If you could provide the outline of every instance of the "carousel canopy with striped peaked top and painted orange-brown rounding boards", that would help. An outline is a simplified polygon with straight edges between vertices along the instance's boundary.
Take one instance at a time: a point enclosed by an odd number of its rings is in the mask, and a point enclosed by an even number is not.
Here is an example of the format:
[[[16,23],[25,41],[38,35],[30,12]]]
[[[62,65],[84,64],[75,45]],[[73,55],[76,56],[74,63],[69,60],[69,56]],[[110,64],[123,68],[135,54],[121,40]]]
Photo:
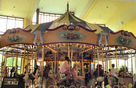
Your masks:
[[[0,38],[0,47],[13,44],[45,45],[50,43],[85,43],[98,46],[135,48],[135,36],[127,31],[113,32],[108,27],[90,24],[67,9],[60,18],[25,29],[7,30]]]

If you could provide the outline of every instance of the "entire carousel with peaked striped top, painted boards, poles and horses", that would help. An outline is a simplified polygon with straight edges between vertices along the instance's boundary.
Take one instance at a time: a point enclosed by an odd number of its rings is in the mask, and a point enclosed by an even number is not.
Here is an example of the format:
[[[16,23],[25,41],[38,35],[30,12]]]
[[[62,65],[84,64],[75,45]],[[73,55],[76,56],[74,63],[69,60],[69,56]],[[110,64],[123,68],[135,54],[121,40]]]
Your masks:
[[[129,56],[136,54],[135,43],[132,33],[85,22],[67,6],[66,13],[52,22],[9,29],[0,37],[2,88],[129,88],[133,70],[119,72],[118,66],[119,59],[128,62]],[[21,73],[14,77],[5,76],[9,57],[21,58]],[[117,81],[109,74],[112,59]],[[61,71],[66,66],[67,70]],[[111,87],[106,87],[105,79]],[[18,87],[20,80],[22,87]]]

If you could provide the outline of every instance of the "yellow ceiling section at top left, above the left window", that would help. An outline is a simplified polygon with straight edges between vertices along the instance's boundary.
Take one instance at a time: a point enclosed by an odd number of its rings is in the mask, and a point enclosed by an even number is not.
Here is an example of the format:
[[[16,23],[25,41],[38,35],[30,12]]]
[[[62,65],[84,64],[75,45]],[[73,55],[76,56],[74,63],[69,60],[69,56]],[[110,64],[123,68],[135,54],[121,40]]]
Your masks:
[[[1,0],[0,15],[30,17],[40,0]]]

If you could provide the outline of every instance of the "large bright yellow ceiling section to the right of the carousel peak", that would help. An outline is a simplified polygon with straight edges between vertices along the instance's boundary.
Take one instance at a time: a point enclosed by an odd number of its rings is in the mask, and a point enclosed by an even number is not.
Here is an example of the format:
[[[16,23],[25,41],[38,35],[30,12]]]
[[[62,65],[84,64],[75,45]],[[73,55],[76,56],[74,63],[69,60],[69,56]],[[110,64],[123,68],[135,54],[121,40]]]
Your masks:
[[[106,24],[113,31],[136,16],[135,0],[95,0],[84,15],[90,23]]]

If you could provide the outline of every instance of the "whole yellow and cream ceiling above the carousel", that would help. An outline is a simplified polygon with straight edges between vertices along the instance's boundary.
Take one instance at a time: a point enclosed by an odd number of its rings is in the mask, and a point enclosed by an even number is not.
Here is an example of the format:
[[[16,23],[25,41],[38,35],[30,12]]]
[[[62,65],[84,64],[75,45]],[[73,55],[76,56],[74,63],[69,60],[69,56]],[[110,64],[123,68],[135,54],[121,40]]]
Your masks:
[[[136,18],[136,0],[69,0],[70,11],[89,23],[106,24],[118,31]],[[36,8],[63,14],[67,0],[0,0],[0,15],[32,18]]]

